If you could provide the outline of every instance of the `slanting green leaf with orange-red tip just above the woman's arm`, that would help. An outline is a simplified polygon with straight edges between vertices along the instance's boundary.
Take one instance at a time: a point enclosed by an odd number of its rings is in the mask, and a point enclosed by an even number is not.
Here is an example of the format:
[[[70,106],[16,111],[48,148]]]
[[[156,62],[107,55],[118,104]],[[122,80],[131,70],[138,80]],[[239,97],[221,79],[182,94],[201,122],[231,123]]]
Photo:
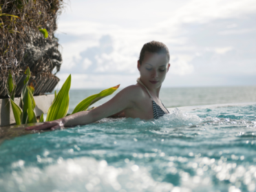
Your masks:
[[[109,89],[103,90],[99,94],[95,94],[95,95],[85,98],[80,103],[78,103],[78,105],[76,105],[76,108],[74,109],[72,114],[75,114],[79,111],[85,111],[86,109],[88,109],[88,107],[90,105],[96,103],[98,100],[105,98],[105,96],[109,96],[109,95],[113,94],[114,92],[116,92],[116,89],[118,89],[119,86],[120,85],[116,85],[115,87],[111,87]]]

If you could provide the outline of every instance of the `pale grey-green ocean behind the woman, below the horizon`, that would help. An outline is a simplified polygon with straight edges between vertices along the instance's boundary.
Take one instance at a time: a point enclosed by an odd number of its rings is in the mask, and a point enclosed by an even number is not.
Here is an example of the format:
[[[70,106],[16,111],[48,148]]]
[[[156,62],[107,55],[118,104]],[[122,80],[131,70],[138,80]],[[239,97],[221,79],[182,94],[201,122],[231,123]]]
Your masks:
[[[111,96],[107,96],[92,105],[98,107],[113,98],[122,88]],[[70,109],[72,113],[76,105],[103,89],[70,89]],[[256,102],[256,86],[254,87],[171,87],[160,90],[160,99],[165,107],[182,107],[194,105],[211,105],[222,103]]]

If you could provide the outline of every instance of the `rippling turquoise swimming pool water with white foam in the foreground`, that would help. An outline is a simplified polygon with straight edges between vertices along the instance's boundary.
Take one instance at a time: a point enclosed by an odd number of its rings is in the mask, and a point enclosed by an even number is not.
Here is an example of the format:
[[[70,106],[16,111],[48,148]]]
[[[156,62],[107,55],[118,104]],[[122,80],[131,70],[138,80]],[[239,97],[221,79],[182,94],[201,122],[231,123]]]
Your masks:
[[[105,118],[0,145],[0,191],[255,191],[256,105]]]

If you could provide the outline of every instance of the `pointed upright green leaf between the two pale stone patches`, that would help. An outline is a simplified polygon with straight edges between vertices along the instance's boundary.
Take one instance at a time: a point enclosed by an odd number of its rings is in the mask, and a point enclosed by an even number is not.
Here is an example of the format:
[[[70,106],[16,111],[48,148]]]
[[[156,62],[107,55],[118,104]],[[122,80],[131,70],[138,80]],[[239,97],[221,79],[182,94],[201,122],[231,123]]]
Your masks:
[[[32,102],[30,89],[28,86],[25,86],[24,92],[22,92],[22,103],[23,103],[23,112],[22,112],[22,124],[27,124],[31,122],[36,122],[36,115],[34,114],[33,107],[35,103]],[[34,98],[33,98],[34,99]]]

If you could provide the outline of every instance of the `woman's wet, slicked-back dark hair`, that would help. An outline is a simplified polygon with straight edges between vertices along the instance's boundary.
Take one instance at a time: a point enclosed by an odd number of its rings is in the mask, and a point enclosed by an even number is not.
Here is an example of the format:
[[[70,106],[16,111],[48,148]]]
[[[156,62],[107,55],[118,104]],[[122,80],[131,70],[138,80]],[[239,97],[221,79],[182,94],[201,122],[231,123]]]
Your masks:
[[[145,43],[143,45],[139,57],[140,65],[142,64],[146,52],[167,54],[168,61],[170,61],[170,54],[167,45],[164,45],[164,43],[159,41],[150,41],[149,43]]]

